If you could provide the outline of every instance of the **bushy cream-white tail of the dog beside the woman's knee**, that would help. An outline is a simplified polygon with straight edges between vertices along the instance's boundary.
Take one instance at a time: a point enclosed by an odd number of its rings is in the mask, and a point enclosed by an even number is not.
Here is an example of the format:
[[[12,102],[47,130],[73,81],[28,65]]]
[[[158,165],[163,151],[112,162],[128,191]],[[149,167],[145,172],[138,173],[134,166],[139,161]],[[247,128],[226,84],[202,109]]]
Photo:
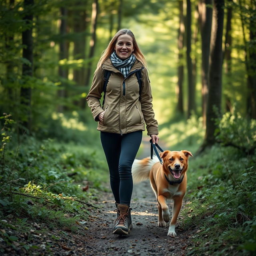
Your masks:
[[[142,160],[135,159],[132,164],[132,179],[134,183],[142,182],[143,180],[149,179],[149,173],[152,166],[159,162],[156,156],[153,159],[150,157],[144,158]]]

